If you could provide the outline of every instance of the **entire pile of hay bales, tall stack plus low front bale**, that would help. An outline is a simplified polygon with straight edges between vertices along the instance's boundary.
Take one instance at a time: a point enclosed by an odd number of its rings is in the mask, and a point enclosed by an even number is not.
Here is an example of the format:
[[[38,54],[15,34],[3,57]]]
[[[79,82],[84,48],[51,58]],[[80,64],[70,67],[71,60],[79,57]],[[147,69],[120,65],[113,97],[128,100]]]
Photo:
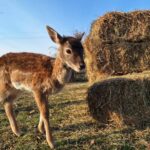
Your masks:
[[[88,79],[99,81],[88,90],[93,117],[116,124],[149,117],[150,11],[100,17],[84,45]]]

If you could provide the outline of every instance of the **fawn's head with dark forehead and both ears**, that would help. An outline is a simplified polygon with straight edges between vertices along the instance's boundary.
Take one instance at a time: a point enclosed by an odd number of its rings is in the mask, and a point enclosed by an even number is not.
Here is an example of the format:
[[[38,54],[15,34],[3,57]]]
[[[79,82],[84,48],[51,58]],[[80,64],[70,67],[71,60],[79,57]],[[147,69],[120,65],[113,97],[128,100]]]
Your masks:
[[[58,57],[63,63],[77,72],[84,70],[85,63],[81,43],[84,34],[78,37],[61,36],[49,26],[47,26],[47,31],[52,41],[58,44]]]

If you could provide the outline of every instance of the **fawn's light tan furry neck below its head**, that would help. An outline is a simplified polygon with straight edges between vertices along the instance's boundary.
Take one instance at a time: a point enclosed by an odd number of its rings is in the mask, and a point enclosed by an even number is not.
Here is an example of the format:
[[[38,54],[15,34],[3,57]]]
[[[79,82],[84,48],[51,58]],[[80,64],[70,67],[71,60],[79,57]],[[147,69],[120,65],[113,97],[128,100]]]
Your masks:
[[[52,78],[58,81],[59,84],[64,85],[71,78],[72,71],[65,63],[57,57],[54,62]]]

